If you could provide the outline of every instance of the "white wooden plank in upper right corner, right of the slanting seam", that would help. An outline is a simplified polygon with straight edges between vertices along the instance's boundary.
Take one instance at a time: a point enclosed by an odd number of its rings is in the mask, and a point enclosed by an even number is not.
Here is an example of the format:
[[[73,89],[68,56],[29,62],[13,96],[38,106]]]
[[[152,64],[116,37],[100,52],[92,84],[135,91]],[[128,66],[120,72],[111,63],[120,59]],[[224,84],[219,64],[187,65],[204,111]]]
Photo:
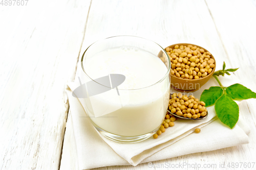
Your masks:
[[[244,84],[256,91],[256,58],[253,56],[256,38],[255,4],[249,0],[232,1],[232,3],[206,0],[206,3],[230,66],[239,67],[235,74]]]

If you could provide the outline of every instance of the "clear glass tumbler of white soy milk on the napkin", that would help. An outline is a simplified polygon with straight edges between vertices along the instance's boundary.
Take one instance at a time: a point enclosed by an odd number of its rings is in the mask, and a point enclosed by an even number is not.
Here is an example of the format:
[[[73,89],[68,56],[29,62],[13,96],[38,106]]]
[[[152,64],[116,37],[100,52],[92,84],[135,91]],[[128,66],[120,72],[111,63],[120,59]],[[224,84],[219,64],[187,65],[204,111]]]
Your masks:
[[[160,45],[135,36],[106,38],[87,48],[81,66],[82,101],[97,131],[133,143],[159,129],[170,95],[170,60]]]

